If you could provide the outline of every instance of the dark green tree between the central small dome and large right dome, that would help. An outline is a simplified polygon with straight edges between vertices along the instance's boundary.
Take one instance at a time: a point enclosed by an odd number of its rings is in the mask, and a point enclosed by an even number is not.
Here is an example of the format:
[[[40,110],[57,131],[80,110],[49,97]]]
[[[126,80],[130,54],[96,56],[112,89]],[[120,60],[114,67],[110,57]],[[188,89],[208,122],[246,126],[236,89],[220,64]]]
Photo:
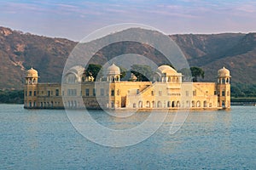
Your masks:
[[[148,65],[131,65],[131,73],[137,77],[138,82],[148,82],[154,75]]]

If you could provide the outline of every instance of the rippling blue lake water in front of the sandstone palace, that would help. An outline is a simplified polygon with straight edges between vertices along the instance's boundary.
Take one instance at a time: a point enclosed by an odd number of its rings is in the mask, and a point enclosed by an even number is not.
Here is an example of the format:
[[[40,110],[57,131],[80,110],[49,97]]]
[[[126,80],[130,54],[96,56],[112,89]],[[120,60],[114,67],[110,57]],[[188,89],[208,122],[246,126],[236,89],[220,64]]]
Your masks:
[[[191,111],[174,134],[168,133],[170,113],[148,139],[116,148],[84,138],[64,110],[0,105],[0,169],[256,169],[255,109]],[[149,113],[127,122],[90,114],[102,125],[129,128]]]

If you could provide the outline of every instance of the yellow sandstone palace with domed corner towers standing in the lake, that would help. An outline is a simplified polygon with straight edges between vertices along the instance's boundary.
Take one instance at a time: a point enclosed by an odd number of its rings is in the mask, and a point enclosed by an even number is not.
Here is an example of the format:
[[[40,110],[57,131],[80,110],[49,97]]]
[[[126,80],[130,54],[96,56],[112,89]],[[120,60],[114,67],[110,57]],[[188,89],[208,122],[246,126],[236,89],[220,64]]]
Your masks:
[[[101,81],[86,77],[74,66],[62,83],[38,83],[38,71],[26,71],[24,108],[27,109],[230,109],[230,71],[218,70],[217,82],[183,82],[183,75],[161,65],[153,82],[120,80],[120,69],[110,65]]]

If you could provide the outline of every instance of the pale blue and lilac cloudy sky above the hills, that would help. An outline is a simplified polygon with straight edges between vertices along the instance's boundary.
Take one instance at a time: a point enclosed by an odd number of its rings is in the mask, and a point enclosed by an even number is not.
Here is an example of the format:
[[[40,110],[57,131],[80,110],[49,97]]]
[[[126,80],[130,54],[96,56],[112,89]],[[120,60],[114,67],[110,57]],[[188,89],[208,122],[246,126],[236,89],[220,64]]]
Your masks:
[[[255,32],[254,0],[0,0],[0,26],[80,41],[121,23],[166,34]]]

